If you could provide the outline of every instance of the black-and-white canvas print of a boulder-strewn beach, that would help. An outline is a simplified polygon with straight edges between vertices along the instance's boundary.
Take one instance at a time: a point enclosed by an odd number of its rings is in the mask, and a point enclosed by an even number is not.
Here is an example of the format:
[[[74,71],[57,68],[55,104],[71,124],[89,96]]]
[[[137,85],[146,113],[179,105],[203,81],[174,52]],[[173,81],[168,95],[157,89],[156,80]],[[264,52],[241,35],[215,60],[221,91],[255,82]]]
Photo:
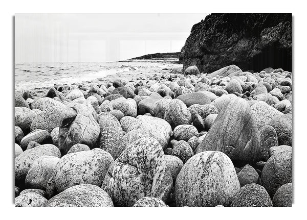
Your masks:
[[[16,207],[292,206],[292,14],[15,14]]]

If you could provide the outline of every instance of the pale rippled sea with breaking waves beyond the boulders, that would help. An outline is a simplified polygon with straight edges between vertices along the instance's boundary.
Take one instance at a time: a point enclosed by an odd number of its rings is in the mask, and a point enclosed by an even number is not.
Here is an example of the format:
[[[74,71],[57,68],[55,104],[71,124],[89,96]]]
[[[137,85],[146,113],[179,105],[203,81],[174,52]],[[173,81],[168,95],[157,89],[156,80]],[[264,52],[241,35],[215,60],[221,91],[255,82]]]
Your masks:
[[[182,64],[176,60],[139,60],[106,63],[15,63],[15,90],[50,88],[55,84],[127,81],[167,74]]]

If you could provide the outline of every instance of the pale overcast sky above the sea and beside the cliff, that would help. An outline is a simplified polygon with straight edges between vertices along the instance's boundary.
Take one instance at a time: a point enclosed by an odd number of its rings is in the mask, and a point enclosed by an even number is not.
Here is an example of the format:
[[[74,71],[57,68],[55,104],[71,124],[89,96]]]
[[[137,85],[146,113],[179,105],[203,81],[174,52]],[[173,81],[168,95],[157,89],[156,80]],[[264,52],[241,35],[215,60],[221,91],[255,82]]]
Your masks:
[[[179,52],[208,14],[16,14],[15,62],[106,62]]]

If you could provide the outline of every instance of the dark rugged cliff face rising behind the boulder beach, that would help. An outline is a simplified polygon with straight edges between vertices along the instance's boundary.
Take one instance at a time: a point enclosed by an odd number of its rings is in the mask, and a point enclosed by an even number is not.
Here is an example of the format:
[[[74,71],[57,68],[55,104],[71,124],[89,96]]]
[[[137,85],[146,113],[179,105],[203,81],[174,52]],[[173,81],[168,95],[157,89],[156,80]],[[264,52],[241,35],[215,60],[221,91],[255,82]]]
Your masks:
[[[292,71],[292,15],[210,14],[192,27],[181,52],[184,69],[210,73],[234,64]]]

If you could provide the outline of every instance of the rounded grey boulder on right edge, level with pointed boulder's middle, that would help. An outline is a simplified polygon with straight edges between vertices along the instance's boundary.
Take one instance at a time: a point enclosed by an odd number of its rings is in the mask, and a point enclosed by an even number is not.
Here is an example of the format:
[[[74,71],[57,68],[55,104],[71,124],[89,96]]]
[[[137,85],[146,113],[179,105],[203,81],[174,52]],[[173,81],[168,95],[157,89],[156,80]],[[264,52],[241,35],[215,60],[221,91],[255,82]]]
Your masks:
[[[272,117],[268,122],[268,125],[272,126],[278,137],[278,143],[280,145],[292,146],[292,116],[285,114],[278,114]]]

